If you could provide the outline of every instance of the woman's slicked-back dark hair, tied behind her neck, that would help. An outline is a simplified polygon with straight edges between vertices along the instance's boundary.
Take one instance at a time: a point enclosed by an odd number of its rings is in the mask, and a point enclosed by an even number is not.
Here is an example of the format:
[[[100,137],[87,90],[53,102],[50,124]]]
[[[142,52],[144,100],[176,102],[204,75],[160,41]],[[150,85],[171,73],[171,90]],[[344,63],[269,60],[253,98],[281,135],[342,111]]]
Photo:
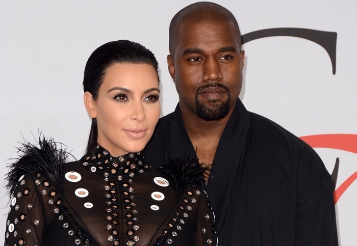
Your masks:
[[[83,90],[90,92],[94,100],[98,98],[99,87],[103,83],[107,69],[117,63],[148,64],[158,74],[158,61],[154,54],[143,45],[129,40],[112,41],[101,45],[88,58],[84,69]],[[92,119],[87,151],[96,144],[98,127],[96,119]]]

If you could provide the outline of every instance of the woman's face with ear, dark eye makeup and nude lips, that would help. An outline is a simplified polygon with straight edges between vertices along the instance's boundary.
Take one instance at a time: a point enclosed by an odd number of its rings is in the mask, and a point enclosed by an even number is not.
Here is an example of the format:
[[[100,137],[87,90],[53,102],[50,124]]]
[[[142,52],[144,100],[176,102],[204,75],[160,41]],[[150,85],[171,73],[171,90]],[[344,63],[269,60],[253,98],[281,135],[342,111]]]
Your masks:
[[[113,156],[141,151],[160,117],[159,81],[148,64],[114,64],[105,74],[97,100],[86,92],[88,113],[96,118],[97,142]]]

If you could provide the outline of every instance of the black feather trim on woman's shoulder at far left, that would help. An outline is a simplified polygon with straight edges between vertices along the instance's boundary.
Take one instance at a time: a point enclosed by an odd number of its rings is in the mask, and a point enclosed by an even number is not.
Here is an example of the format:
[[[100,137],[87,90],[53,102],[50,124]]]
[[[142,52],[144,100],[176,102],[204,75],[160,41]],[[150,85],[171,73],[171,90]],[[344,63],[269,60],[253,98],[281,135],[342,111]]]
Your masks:
[[[13,194],[16,184],[22,175],[40,173],[62,191],[62,171],[68,156],[66,149],[58,149],[53,138],[45,139],[41,134],[37,145],[29,142],[17,147],[20,153],[16,161],[9,166],[6,188]]]

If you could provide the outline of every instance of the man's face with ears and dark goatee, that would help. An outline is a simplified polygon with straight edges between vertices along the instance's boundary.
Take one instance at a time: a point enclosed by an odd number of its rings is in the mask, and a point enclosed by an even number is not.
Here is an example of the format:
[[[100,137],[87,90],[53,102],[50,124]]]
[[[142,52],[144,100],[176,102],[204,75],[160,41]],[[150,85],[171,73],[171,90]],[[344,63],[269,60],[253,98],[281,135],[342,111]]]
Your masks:
[[[231,22],[187,22],[167,58],[182,113],[210,121],[224,118],[242,89],[244,51]]]

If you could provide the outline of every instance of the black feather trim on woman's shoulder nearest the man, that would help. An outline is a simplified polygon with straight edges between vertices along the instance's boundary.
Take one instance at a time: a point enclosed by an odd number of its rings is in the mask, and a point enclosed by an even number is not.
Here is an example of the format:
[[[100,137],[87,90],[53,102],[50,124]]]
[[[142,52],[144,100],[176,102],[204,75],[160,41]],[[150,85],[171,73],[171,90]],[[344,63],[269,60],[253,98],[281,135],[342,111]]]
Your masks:
[[[197,186],[205,181],[204,173],[207,168],[202,167],[196,158],[169,158],[168,162],[158,168],[163,172],[171,186],[176,190],[177,198],[181,197],[189,187]]]

